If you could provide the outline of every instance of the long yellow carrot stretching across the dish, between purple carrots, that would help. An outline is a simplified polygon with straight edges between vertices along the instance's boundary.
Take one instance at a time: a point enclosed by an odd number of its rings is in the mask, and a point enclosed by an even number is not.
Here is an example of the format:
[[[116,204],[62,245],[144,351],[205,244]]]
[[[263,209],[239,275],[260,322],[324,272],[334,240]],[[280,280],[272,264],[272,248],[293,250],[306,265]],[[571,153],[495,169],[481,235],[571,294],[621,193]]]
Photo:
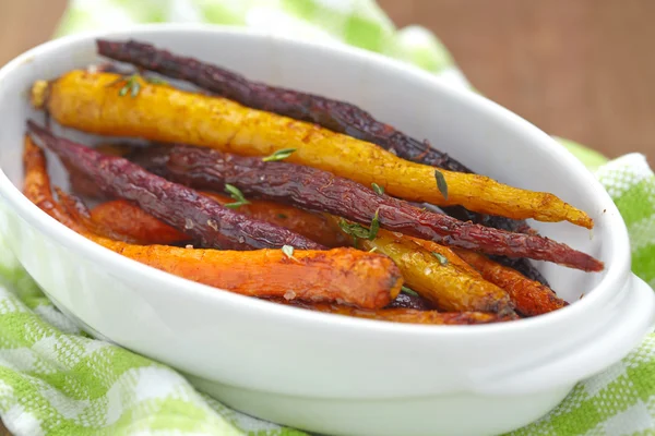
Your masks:
[[[585,213],[549,193],[511,187],[477,174],[436,172],[432,167],[403,160],[373,144],[303,121],[140,78],[132,83],[134,98],[121,96],[126,84],[116,83],[120,78],[117,74],[72,71],[46,87],[37,83],[32,101],[47,109],[59,123],[85,132],[189,143],[250,156],[294,148],[288,157],[291,162],[367,186],[377,183],[391,195],[409,201],[593,227]],[[448,186],[448,195],[443,185]]]

